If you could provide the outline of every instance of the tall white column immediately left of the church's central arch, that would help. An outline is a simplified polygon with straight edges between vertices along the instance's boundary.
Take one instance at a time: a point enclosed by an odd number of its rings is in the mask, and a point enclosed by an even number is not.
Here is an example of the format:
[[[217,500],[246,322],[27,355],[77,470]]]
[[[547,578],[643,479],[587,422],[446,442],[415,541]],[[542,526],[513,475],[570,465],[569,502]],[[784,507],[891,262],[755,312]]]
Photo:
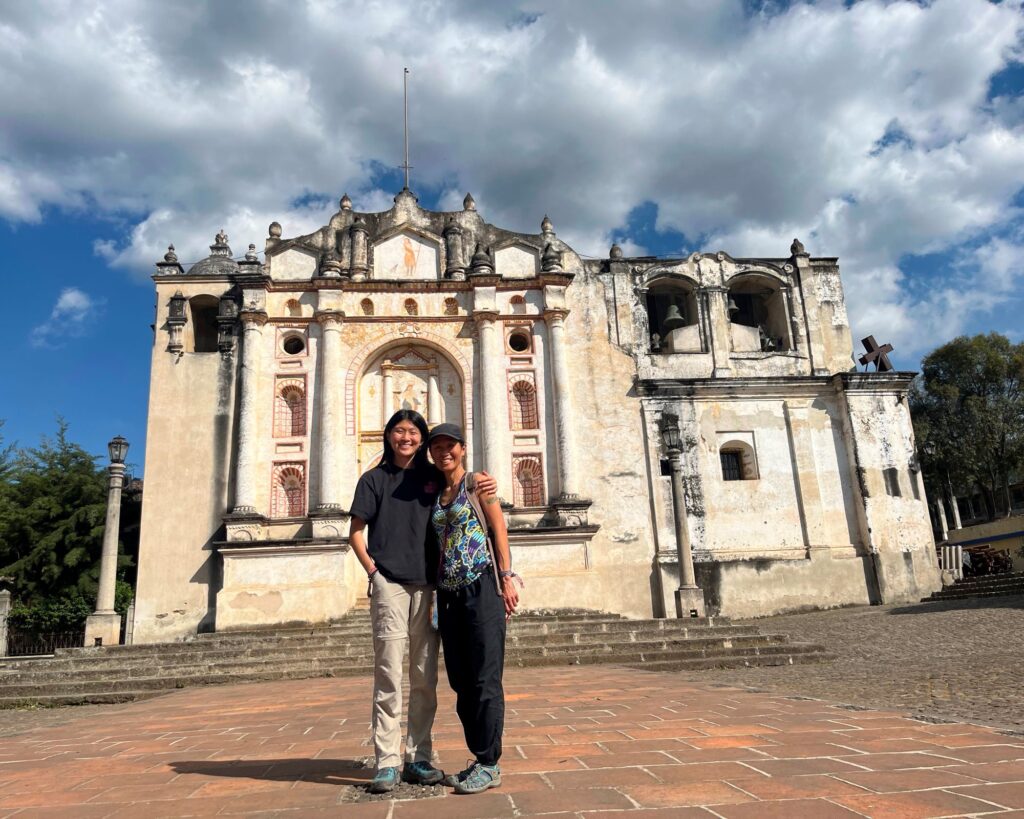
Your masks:
[[[321,310],[316,320],[321,326],[321,382],[319,382],[319,503],[317,514],[338,514],[341,509],[341,489],[338,480],[338,452],[341,445],[344,408],[341,383],[341,322],[339,310]]]

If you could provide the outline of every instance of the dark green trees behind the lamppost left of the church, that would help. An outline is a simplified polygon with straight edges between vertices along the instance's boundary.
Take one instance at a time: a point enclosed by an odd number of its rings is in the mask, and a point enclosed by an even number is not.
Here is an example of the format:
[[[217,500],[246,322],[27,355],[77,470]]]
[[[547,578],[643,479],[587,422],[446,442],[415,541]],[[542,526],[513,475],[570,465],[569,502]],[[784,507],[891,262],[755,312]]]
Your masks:
[[[22,606],[39,608],[44,619],[67,621],[83,605],[91,612],[106,522],[106,470],[69,439],[62,420],[56,435],[36,447],[3,447],[2,440],[0,447],[0,575],[12,578]],[[122,531],[137,532],[138,517],[138,499],[125,492]],[[128,553],[119,548],[120,579],[134,579],[134,546],[130,540]]]

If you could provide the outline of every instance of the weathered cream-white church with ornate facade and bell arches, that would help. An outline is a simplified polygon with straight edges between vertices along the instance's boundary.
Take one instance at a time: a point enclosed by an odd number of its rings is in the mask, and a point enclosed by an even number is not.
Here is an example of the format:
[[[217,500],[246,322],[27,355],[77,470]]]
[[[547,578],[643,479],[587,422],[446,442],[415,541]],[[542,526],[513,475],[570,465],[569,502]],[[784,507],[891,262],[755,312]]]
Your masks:
[[[547,217],[517,233],[403,189],[272,223],[263,260],[223,232],[188,269],[172,247],[154,279],[136,642],[356,605],[346,510],[400,407],[464,425],[527,609],[675,616],[684,573],[731,617],[940,585],[912,374],[855,370],[837,260],[799,242],[585,260]]]

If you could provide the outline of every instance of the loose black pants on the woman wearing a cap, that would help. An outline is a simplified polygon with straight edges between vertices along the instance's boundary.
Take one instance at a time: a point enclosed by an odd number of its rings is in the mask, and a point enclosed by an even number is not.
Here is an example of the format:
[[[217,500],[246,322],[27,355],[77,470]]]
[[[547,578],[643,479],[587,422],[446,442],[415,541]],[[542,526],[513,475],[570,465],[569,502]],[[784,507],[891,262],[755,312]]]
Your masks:
[[[492,569],[464,589],[437,590],[437,626],[466,746],[478,763],[497,765],[505,728],[505,602]]]

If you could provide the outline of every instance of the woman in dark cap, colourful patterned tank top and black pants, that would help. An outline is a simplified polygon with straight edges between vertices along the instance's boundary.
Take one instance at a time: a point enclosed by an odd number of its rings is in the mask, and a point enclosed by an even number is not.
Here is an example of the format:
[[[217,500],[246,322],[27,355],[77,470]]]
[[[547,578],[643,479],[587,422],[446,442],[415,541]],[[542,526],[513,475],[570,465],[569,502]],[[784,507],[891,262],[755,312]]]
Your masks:
[[[434,427],[428,448],[444,475],[431,516],[441,549],[437,620],[456,710],[475,757],[469,768],[444,781],[457,793],[479,793],[502,782],[505,623],[519,595],[495,487],[466,475],[462,430],[455,424]]]

